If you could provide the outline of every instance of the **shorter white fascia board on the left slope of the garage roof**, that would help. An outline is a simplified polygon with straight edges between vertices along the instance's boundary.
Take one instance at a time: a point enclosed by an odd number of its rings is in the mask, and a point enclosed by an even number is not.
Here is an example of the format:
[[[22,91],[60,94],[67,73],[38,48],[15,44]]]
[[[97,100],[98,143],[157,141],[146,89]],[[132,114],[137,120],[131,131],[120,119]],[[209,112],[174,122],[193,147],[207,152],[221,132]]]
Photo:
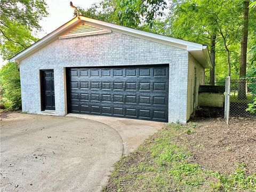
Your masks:
[[[27,49],[21,51],[17,55],[14,55],[14,57],[10,58],[9,61],[19,62],[23,58],[26,58],[27,55],[34,53],[35,51],[41,49],[43,46],[49,44],[49,42],[54,41],[54,39],[57,39],[60,34],[63,34],[67,30],[69,30],[71,27],[76,26],[78,22],[80,22],[80,20],[77,17],[73,18],[69,22],[65,23],[63,26],[59,27],[58,29],[54,30],[52,33],[46,35],[36,43],[29,46]]]

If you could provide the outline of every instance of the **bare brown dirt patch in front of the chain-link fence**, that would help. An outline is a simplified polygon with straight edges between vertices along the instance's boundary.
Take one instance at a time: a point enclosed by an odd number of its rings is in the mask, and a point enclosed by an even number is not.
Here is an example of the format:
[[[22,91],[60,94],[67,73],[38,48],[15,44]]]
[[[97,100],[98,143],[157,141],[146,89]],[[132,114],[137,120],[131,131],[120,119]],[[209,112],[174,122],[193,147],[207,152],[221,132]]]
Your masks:
[[[194,118],[197,125],[187,139],[192,151],[191,162],[204,168],[229,174],[238,163],[245,163],[247,173],[256,172],[256,119],[231,118],[227,125],[223,118]]]

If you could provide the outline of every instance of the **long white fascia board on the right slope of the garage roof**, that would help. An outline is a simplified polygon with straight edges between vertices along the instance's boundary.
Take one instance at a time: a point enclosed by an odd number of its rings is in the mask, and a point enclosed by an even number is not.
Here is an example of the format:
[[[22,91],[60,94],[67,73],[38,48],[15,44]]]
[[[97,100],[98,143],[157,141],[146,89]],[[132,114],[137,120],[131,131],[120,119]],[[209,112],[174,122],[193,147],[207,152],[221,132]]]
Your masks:
[[[189,42],[189,41],[185,41],[185,40],[177,39],[177,38],[173,38],[173,37],[167,37],[164,35],[149,33],[147,31],[132,29],[129,27],[119,26],[114,23],[109,23],[109,22],[105,22],[105,21],[99,21],[99,20],[95,20],[95,19],[91,19],[91,18],[82,17],[82,16],[81,16],[81,19],[84,21],[90,22],[90,25],[94,24],[94,25],[99,25],[99,26],[105,26],[114,31],[122,32],[124,34],[129,34],[132,36],[137,36],[140,38],[151,39],[151,41],[159,41],[162,43],[165,42],[165,44],[168,43],[168,45],[180,47],[185,50],[187,50],[187,49],[202,50],[202,46],[203,46],[202,44]],[[189,50],[187,50],[187,51],[189,51]]]

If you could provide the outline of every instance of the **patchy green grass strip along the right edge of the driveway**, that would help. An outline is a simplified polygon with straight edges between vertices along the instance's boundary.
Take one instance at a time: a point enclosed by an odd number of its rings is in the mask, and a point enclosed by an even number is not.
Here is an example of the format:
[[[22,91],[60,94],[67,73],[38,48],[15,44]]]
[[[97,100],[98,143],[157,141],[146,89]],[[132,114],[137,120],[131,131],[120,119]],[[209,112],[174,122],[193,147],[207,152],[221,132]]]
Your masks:
[[[182,134],[194,134],[196,126],[165,126],[115,164],[103,191],[256,191],[256,173],[246,175],[244,164],[222,175],[189,162],[192,153]]]

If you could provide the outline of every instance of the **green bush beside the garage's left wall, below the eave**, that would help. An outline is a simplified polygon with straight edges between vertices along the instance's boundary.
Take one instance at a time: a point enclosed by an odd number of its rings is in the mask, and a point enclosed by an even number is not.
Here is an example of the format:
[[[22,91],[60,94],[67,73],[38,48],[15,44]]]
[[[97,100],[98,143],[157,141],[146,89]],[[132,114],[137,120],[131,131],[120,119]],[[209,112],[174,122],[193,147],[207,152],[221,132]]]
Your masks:
[[[1,103],[6,109],[21,109],[20,71],[19,65],[7,63],[0,69]]]

